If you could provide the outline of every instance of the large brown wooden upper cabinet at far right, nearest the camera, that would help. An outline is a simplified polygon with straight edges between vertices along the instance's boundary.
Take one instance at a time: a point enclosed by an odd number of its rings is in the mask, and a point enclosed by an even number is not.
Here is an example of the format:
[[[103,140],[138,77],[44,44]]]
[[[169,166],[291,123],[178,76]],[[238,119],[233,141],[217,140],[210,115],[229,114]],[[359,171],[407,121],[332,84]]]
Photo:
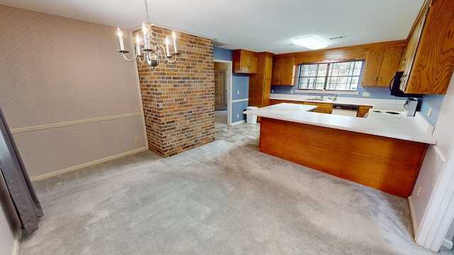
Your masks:
[[[454,1],[426,1],[399,67],[400,89],[411,94],[446,94],[454,70]]]

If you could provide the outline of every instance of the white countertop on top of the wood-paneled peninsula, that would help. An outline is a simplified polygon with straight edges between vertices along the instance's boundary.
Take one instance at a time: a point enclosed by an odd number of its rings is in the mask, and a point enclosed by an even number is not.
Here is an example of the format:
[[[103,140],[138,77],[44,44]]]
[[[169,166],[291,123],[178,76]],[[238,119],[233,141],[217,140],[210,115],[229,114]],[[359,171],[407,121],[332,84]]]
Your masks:
[[[335,128],[361,132],[369,135],[378,135],[400,140],[423,142],[435,145],[436,139],[424,132],[421,127],[422,115],[415,117],[404,115],[389,115],[384,113],[370,114],[368,118],[356,118],[343,115],[309,112],[316,106],[296,103],[279,103],[272,106],[244,111],[245,114],[258,115],[263,118],[286,120],[293,123],[317,125],[325,128]]]

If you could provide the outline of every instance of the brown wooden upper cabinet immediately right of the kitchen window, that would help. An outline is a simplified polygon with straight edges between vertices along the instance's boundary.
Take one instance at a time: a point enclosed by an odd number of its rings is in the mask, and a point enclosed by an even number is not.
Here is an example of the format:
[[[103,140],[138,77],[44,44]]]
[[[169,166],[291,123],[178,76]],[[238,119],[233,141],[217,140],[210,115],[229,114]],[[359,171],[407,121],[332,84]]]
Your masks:
[[[361,86],[389,86],[399,64],[404,47],[368,50],[362,71]]]

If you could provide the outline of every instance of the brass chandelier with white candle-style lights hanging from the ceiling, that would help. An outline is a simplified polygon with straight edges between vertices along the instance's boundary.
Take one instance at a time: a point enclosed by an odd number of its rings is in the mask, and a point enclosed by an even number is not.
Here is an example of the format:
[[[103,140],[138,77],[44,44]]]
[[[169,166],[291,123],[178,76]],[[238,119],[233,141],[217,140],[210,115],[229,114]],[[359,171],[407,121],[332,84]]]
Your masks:
[[[160,63],[161,60],[167,60],[167,64],[171,64],[177,60],[177,35],[172,31],[172,40],[173,40],[173,50],[174,52],[170,54],[169,50],[169,38],[165,37],[165,47],[153,40],[153,23],[150,22],[150,16],[148,16],[148,4],[145,0],[145,13],[147,14],[147,21],[142,23],[142,33],[143,33],[143,43],[140,41],[139,33],[135,37],[135,55],[132,60],[126,57],[128,50],[125,50],[125,45],[123,42],[123,34],[121,33],[120,28],[116,28],[118,33],[118,39],[120,40],[120,52],[123,55],[125,60],[133,62],[139,60],[140,63],[144,64],[147,62],[153,69]],[[165,55],[164,55],[165,54]]]

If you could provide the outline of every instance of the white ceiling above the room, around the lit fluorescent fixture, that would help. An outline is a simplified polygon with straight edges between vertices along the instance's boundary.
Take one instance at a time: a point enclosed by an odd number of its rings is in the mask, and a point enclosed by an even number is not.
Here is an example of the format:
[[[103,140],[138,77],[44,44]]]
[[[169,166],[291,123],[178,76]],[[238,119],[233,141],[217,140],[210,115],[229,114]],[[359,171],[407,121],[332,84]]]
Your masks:
[[[143,0],[0,0],[0,4],[138,28]],[[314,35],[328,47],[406,39],[423,0],[148,0],[150,21],[223,42],[228,50],[275,54],[307,50],[294,38]],[[330,40],[345,36],[345,38]]]

